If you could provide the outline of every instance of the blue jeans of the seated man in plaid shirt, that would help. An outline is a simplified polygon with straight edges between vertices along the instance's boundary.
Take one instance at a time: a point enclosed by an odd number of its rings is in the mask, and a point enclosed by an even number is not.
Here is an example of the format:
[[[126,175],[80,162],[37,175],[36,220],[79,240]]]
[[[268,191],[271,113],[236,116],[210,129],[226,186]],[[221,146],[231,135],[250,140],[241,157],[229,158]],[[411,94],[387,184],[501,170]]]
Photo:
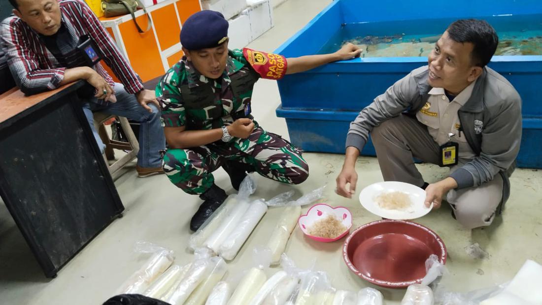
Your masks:
[[[164,129],[160,121],[160,110],[154,104],[149,104],[152,108],[152,113],[145,110],[137,102],[135,95],[129,94],[124,90],[124,86],[115,83],[116,103],[110,105],[99,105],[96,98],[92,98],[89,102],[83,104],[83,112],[87,117],[88,124],[91,125],[94,138],[98,147],[102,151],[105,150],[105,144],[101,141],[98,131],[94,128],[93,111],[101,111],[107,114],[119,115],[139,122],[139,153],[137,155],[137,164],[140,167],[162,167],[162,158],[160,158],[160,150],[164,150],[166,140],[164,137]]]

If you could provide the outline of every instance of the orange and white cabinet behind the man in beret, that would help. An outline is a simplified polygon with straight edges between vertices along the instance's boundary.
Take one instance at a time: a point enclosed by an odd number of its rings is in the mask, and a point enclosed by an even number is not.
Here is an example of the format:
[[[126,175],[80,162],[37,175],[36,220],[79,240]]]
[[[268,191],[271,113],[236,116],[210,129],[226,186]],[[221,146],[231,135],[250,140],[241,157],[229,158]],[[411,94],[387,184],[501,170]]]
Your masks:
[[[201,4],[199,0],[165,0],[146,9],[152,19],[152,28],[143,34],[135,28],[131,15],[100,18],[144,82],[164,75],[180,59],[183,54],[179,42],[182,23],[200,11]],[[143,10],[135,12],[135,16],[139,26],[146,29],[147,16]]]

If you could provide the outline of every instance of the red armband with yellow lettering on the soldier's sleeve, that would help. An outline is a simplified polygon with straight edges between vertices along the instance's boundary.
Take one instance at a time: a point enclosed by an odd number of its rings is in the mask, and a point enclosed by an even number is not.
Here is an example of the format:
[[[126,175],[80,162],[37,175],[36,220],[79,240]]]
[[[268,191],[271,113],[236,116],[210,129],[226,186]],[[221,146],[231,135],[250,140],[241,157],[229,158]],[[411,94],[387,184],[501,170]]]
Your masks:
[[[244,48],[243,56],[262,78],[281,79],[286,74],[288,63],[282,55]]]

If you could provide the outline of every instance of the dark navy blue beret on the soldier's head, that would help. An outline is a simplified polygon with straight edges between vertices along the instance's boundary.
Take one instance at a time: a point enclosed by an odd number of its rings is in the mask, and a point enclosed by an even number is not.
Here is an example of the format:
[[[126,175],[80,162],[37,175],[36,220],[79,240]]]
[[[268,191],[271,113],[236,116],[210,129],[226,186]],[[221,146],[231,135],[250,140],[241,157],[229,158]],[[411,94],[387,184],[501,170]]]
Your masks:
[[[228,38],[228,26],[220,12],[199,11],[184,22],[180,44],[188,50],[218,47]]]

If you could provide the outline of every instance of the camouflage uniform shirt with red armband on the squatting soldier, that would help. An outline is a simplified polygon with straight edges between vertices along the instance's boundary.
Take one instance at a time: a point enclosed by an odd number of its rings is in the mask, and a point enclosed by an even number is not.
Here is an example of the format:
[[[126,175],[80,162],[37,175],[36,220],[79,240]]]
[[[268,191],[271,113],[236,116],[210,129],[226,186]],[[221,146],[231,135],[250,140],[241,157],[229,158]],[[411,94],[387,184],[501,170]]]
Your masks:
[[[266,59],[284,59],[280,55],[250,49],[230,50],[228,55],[226,68],[219,79],[203,76],[185,57],[167,71],[156,86],[164,127],[208,130],[229,125],[238,114],[250,114],[250,100],[257,79],[282,77],[275,75],[276,67],[271,67],[272,72],[265,70],[269,66]]]

